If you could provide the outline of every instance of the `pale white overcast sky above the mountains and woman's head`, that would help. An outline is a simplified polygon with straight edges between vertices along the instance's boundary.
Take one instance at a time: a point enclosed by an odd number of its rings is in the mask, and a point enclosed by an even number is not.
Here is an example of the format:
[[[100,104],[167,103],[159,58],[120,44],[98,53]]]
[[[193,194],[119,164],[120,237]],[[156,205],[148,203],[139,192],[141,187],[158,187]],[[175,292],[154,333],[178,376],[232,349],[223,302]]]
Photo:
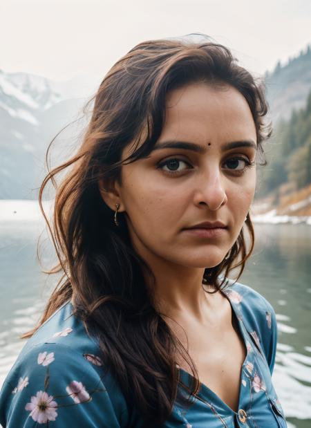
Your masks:
[[[311,42],[310,0],[0,0],[0,69],[102,75],[140,41],[203,32],[253,73]]]

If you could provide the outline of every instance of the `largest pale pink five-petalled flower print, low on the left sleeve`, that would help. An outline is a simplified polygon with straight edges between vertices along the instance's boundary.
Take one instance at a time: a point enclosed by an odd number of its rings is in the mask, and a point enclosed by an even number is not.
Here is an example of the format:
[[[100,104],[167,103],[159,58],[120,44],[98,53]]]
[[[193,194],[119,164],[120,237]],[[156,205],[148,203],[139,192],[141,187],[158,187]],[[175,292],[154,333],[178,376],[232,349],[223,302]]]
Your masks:
[[[37,396],[32,396],[31,402],[25,406],[25,410],[30,411],[30,416],[39,424],[46,424],[48,420],[57,418],[57,402],[53,396],[48,396],[44,391],[38,391]]]

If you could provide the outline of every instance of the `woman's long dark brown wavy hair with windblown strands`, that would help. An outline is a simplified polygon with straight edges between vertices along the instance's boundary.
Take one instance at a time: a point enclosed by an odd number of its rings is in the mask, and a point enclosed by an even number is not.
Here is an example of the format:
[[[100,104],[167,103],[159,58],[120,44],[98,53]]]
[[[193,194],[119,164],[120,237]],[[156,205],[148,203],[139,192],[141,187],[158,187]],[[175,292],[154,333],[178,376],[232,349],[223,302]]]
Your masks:
[[[199,81],[234,86],[245,97],[256,126],[258,153],[263,158],[260,165],[266,165],[262,143],[270,137],[271,127],[265,124],[268,107],[261,80],[238,66],[228,48],[204,35],[200,41],[151,40],[131,49],[104,77],[86,104],[94,102],[77,153],[48,169],[39,191],[41,212],[59,259],[57,266],[45,273],[60,272],[61,277],[39,324],[23,337],[30,337],[71,299],[87,331],[98,339],[105,365],[119,382],[129,406],[149,427],[167,420],[173,403],[180,399],[176,355],[191,367],[194,382],[189,393],[200,387],[198,373],[187,350],[153,305],[143,272],[149,272],[153,281],[154,275],[133,250],[126,213],[118,214],[120,226],[115,227],[113,211],[104,203],[99,183],[120,183],[124,163],[151,153],[164,124],[167,93]],[[130,142],[135,143],[135,150],[122,162],[122,151]],[[56,174],[68,167],[60,185],[55,185]],[[50,180],[56,187],[51,225],[42,206]],[[241,277],[253,247],[254,228],[248,214],[225,259],[205,269],[203,288],[204,283],[212,286],[212,292],[225,288],[234,268],[239,268],[236,280]]]

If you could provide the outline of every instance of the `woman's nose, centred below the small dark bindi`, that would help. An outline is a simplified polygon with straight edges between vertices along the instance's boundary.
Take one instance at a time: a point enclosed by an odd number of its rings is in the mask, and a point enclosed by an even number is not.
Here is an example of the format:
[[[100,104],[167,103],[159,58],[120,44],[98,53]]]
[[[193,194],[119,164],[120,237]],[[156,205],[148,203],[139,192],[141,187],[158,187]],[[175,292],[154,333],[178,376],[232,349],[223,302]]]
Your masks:
[[[213,171],[198,178],[196,183],[195,203],[205,204],[209,210],[218,210],[227,202],[224,178],[219,171]]]

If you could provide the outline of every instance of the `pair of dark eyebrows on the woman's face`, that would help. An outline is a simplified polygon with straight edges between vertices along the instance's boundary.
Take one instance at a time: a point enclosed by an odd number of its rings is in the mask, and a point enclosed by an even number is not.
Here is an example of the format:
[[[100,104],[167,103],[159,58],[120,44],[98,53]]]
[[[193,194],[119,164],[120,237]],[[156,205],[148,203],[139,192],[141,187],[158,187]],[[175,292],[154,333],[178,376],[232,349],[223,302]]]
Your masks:
[[[207,152],[208,146],[202,146],[195,144],[194,142],[187,142],[187,141],[176,141],[176,140],[169,140],[169,141],[162,141],[157,142],[156,146],[153,147],[153,150],[159,150],[159,149],[185,149],[185,150],[191,150],[196,151],[197,153],[204,154]],[[241,141],[232,141],[232,142],[226,142],[222,147],[221,150],[229,150],[229,149],[236,149],[238,147],[252,147],[252,149],[257,150],[257,145],[253,140],[241,140]]]

